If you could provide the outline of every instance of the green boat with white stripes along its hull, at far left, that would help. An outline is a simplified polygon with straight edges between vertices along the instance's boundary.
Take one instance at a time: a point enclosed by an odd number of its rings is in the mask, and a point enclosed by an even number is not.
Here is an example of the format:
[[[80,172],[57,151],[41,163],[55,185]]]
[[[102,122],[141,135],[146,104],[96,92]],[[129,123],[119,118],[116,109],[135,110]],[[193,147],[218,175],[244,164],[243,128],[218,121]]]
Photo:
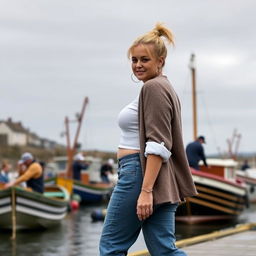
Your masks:
[[[0,228],[49,228],[67,214],[69,193],[64,187],[50,185],[43,194],[21,187],[0,188]]]

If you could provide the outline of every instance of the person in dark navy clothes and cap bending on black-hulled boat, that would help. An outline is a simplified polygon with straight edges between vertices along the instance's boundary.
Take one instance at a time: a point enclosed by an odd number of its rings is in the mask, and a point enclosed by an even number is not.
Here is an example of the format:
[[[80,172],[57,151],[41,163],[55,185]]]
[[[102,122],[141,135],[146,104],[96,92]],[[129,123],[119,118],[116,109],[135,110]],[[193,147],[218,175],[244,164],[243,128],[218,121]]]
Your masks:
[[[186,154],[188,158],[189,166],[200,170],[199,161],[202,160],[204,165],[208,167],[206,157],[204,154],[204,148],[202,144],[205,143],[205,137],[199,136],[195,141],[189,143],[186,147]]]

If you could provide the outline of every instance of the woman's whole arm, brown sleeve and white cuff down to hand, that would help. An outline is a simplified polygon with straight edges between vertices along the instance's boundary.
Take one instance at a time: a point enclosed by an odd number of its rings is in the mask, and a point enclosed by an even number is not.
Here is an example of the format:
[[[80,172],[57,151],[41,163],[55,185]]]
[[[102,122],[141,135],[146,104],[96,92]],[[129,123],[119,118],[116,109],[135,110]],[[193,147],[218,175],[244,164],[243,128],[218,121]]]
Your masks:
[[[141,150],[145,151],[146,165],[137,215],[144,220],[153,213],[152,190],[163,162],[167,162],[171,155],[173,108],[169,87],[155,79],[147,81],[142,87],[139,104],[146,142]]]

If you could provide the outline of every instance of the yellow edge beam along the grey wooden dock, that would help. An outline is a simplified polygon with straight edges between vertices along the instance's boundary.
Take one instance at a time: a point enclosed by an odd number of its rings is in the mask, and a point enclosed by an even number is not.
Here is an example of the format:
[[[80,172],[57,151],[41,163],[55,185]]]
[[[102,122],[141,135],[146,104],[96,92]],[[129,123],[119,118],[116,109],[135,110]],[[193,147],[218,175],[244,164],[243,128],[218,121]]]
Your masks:
[[[240,232],[248,231],[248,230],[251,230],[254,228],[256,228],[256,223],[239,224],[239,225],[235,226],[234,228],[214,231],[209,234],[183,239],[183,240],[177,241],[175,244],[177,247],[182,248],[185,246],[202,243],[205,241],[218,239],[218,238],[221,238],[224,236],[229,236],[232,234],[237,234]],[[142,250],[142,251],[138,251],[138,252],[129,253],[128,256],[150,256],[150,254],[147,250]]]

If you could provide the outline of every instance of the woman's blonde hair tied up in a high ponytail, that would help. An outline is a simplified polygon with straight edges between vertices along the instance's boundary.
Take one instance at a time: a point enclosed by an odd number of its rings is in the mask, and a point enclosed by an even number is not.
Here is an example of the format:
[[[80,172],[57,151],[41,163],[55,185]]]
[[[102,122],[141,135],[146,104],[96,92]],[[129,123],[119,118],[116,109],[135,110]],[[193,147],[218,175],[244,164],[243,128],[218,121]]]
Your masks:
[[[131,53],[134,47],[138,46],[139,44],[144,44],[153,45],[153,54],[158,58],[163,57],[165,60],[167,56],[167,48],[162,37],[164,37],[169,44],[174,45],[174,37],[172,32],[168,28],[166,28],[162,23],[157,23],[154,29],[138,37],[133,42],[133,44],[131,45],[127,52],[128,58],[131,57]]]

